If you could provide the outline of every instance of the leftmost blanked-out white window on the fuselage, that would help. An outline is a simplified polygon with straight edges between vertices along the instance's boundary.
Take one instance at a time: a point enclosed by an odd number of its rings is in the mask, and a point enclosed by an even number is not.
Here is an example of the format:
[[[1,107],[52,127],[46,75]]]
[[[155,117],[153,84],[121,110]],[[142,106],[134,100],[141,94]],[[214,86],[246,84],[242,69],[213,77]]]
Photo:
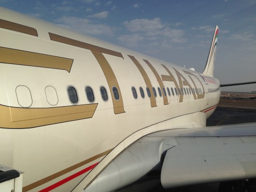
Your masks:
[[[16,96],[18,104],[23,108],[29,108],[32,105],[32,96],[30,90],[26,86],[16,87]]]

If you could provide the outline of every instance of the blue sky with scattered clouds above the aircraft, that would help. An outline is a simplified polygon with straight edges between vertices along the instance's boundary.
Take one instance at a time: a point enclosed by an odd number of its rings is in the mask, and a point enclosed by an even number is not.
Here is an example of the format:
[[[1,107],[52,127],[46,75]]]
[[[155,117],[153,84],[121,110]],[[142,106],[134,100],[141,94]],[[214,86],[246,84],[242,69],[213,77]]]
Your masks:
[[[0,6],[202,72],[219,26],[215,77],[256,81],[255,0],[0,0]],[[256,84],[222,88],[256,91]]]

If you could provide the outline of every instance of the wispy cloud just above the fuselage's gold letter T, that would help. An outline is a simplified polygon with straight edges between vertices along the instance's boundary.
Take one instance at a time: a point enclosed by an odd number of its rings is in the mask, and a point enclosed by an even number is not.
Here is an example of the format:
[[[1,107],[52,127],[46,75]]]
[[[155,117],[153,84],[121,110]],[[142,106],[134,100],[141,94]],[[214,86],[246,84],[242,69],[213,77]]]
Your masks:
[[[107,35],[112,36],[114,34],[115,28],[111,28],[107,25],[102,24],[92,24],[90,19],[87,18],[77,18],[63,16],[55,20],[59,26],[65,27],[77,32],[86,33],[90,35]]]

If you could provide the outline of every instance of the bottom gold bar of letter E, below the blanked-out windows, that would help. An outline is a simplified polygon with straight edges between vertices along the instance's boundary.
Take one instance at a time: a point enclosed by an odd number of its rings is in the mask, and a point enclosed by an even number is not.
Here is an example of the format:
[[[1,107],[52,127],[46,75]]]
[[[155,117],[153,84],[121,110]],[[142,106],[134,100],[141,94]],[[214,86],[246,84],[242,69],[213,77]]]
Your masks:
[[[15,108],[0,105],[0,127],[24,129],[92,118],[98,103],[57,108]]]

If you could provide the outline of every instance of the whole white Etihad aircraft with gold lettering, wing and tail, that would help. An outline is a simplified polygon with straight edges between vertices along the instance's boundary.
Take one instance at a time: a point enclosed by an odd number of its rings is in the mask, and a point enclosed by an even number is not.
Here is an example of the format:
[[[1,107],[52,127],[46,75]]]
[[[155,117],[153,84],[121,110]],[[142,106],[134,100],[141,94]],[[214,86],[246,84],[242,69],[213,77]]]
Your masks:
[[[0,164],[24,192],[256,177],[256,123],[206,127],[218,32],[199,73],[0,8]]]

